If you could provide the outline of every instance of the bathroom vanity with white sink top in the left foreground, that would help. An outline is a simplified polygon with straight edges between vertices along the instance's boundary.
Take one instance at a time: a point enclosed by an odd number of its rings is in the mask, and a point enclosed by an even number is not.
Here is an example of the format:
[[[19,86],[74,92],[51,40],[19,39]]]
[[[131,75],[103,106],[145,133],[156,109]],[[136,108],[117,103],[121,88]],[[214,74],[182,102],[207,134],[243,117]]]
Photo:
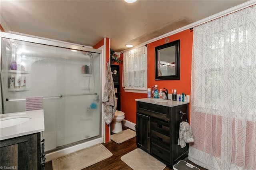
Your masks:
[[[0,121],[1,167],[40,170],[41,162],[44,164],[44,111],[1,114]]]

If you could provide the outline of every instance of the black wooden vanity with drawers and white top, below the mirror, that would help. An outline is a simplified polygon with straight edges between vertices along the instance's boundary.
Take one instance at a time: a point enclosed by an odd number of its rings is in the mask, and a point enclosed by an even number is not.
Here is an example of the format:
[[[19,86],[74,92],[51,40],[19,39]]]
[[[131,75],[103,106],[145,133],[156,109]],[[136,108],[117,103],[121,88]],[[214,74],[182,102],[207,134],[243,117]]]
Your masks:
[[[181,148],[178,137],[189,102],[144,98],[136,103],[137,147],[170,167],[188,156],[188,144]]]

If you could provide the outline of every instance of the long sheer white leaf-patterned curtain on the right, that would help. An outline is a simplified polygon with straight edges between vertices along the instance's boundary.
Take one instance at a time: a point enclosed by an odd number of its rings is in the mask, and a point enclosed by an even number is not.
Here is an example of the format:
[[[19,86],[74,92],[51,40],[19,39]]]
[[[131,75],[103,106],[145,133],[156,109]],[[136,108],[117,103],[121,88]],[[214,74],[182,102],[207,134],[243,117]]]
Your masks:
[[[256,6],[194,28],[189,160],[256,170]]]

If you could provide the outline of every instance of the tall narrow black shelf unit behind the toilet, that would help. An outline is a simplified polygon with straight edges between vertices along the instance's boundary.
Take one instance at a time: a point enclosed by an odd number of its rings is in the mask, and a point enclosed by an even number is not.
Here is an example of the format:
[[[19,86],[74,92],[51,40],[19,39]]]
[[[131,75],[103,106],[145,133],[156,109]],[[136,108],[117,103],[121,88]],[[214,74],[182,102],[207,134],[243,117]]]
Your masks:
[[[115,94],[116,97],[118,98],[117,101],[117,110],[120,111],[121,110],[121,93],[120,93],[120,71],[119,71],[119,65],[114,65],[111,64],[111,72],[112,77],[113,77],[113,81],[114,81],[114,88],[116,89]],[[114,70],[116,70],[116,74],[114,74]]]

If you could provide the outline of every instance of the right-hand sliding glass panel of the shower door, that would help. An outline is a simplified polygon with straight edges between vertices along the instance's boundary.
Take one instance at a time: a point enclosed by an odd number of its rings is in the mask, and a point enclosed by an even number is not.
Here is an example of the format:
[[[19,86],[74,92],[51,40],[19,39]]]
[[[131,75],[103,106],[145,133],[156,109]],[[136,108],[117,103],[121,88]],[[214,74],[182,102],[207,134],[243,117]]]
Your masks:
[[[65,99],[64,144],[99,136],[100,54],[60,47],[57,53],[57,82]]]

